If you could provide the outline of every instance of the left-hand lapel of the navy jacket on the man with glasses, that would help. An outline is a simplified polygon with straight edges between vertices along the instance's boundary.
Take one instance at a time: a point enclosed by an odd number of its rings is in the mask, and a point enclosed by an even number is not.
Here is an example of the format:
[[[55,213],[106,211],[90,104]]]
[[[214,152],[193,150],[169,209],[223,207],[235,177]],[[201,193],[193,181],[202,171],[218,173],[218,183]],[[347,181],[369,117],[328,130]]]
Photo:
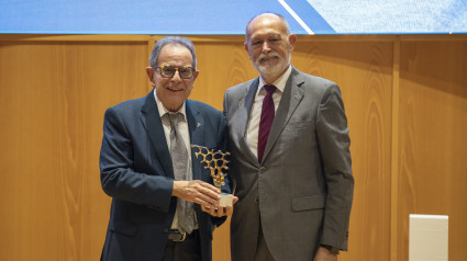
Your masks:
[[[159,111],[157,110],[156,100],[154,98],[154,91],[149,92],[149,94],[146,97],[145,103],[141,111],[143,113],[141,121],[153,143],[154,149],[156,150],[155,156],[159,159],[166,175],[174,179],[171,158],[168,151]]]

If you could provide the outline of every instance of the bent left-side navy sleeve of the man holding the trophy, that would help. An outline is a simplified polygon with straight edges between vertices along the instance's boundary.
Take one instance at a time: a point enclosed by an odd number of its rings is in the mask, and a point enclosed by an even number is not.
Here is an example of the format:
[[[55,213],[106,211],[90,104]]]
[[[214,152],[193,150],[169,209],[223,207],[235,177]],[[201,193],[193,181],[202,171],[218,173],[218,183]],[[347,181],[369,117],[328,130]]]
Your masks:
[[[107,110],[99,161],[103,191],[119,200],[168,212],[174,181],[136,172],[133,146],[123,117],[113,109]]]

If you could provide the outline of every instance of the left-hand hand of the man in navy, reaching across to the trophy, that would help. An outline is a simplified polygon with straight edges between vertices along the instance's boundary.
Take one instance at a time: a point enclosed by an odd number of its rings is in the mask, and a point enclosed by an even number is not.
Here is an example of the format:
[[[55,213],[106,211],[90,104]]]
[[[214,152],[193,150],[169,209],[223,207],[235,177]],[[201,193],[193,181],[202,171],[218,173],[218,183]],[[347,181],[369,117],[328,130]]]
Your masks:
[[[174,181],[173,196],[193,202],[202,206],[218,206],[221,192],[213,185],[201,181]]]

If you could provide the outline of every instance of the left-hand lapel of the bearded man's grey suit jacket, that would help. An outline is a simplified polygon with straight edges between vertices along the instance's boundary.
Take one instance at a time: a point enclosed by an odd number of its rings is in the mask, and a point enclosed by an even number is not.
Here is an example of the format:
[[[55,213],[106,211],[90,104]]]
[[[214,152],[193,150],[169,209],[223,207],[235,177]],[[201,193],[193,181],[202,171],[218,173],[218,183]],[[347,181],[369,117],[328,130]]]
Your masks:
[[[246,95],[238,102],[238,111],[241,112],[241,115],[238,117],[238,146],[242,149],[242,151],[247,151],[248,158],[254,162],[255,164],[258,164],[258,160],[253,154],[252,149],[248,146],[246,137],[247,132],[247,123],[249,120],[249,113],[252,111],[253,102],[255,100],[256,92],[258,90],[259,84],[259,78],[256,78],[252,84],[247,89]]]

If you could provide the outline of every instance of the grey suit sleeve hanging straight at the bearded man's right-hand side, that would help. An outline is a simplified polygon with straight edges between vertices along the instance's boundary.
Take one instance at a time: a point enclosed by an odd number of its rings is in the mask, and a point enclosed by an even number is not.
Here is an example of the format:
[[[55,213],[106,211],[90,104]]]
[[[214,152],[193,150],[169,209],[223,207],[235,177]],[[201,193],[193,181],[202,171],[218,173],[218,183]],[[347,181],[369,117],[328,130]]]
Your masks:
[[[327,186],[321,243],[347,250],[354,178],[347,118],[335,84],[321,99],[316,132]]]

